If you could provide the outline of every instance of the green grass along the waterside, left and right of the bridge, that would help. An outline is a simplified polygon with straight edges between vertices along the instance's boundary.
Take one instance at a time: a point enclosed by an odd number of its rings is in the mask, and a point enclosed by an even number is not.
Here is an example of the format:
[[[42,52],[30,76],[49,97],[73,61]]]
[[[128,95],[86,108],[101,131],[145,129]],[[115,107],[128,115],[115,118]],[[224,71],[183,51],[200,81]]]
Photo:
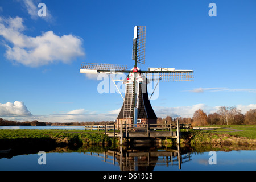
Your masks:
[[[230,129],[225,129],[229,127]],[[206,127],[206,126],[205,126]],[[207,127],[221,127],[217,129],[196,131],[189,130],[183,140],[184,142],[191,141],[192,143],[212,143],[214,142],[233,142],[233,143],[256,143],[256,125],[213,125]],[[242,130],[230,132],[232,129]],[[162,131],[162,130],[160,130]],[[234,130],[233,130],[234,131]],[[241,137],[240,139],[238,139]],[[53,140],[55,143],[64,144],[118,144],[118,137],[108,137],[104,135],[104,130],[0,130],[0,145],[1,142],[13,145],[22,140],[46,141]]]

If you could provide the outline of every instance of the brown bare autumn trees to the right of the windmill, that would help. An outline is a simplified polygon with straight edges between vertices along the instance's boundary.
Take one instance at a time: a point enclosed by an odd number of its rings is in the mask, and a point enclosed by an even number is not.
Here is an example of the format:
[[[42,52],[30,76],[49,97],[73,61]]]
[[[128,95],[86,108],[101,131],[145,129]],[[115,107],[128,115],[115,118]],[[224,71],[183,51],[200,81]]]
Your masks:
[[[256,109],[250,109],[245,114],[241,113],[236,107],[221,106],[212,114],[206,114],[202,109],[196,110],[193,117],[177,117],[180,123],[193,126],[203,125],[241,125],[241,124],[256,124]],[[174,123],[174,118],[167,116],[166,118],[158,118],[158,123]]]

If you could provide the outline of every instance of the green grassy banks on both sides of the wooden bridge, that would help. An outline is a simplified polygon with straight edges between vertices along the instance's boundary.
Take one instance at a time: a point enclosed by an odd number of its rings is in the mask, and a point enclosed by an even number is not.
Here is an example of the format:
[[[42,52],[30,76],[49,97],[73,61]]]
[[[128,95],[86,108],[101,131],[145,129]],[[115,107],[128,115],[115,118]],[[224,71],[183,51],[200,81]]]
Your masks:
[[[251,144],[256,145],[256,125],[214,125],[208,130],[189,130],[180,137],[181,144]],[[210,129],[209,129],[210,128]],[[118,137],[108,137],[100,130],[0,130],[0,150],[9,148],[81,147],[92,144],[119,146]],[[164,144],[176,144],[166,139]]]

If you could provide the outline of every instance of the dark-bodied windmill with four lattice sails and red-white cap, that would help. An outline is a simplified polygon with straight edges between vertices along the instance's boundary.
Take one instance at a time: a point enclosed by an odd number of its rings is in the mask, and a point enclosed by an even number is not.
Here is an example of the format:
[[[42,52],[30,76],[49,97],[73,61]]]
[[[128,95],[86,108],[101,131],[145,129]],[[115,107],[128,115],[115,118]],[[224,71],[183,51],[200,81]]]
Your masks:
[[[117,123],[143,126],[144,123],[156,123],[157,117],[148,98],[147,84],[151,81],[192,81],[193,70],[178,70],[175,68],[148,68],[141,70],[137,64],[145,64],[146,27],[135,26],[132,59],[134,67],[127,69],[127,65],[82,63],[80,73],[128,73],[123,84],[126,85],[125,98],[117,117]],[[119,91],[119,90],[118,90]],[[154,91],[153,91],[154,93]],[[153,94],[152,93],[152,94]],[[120,93],[121,94],[121,93]],[[121,95],[122,96],[122,95]],[[152,95],[151,95],[152,96]]]

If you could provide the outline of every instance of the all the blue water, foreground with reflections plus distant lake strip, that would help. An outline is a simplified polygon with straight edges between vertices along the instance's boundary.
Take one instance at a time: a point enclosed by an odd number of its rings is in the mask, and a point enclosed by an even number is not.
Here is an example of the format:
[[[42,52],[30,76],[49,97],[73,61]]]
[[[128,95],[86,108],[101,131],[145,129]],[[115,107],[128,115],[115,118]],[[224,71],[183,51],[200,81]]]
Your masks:
[[[0,129],[84,129],[84,126],[0,126]],[[0,131],[1,132],[1,131]],[[42,149],[44,150],[44,148]],[[216,151],[216,155],[209,153]],[[255,146],[103,148],[84,146],[40,155],[0,150],[0,171],[255,171]],[[210,159],[210,162],[209,162]],[[216,164],[210,164],[216,161]]]

